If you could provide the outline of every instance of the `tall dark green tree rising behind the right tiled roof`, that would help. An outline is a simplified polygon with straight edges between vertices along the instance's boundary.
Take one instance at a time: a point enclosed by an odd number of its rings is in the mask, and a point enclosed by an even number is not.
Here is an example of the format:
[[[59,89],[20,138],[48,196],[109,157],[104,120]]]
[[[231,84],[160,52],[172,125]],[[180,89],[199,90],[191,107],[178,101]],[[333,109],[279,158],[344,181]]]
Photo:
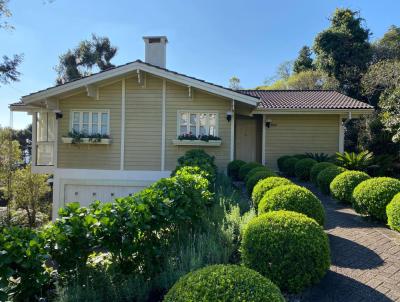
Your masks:
[[[339,89],[360,98],[360,80],[371,60],[370,32],[350,9],[336,9],[331,25],[314,41],[316,65],[339,81]]]

